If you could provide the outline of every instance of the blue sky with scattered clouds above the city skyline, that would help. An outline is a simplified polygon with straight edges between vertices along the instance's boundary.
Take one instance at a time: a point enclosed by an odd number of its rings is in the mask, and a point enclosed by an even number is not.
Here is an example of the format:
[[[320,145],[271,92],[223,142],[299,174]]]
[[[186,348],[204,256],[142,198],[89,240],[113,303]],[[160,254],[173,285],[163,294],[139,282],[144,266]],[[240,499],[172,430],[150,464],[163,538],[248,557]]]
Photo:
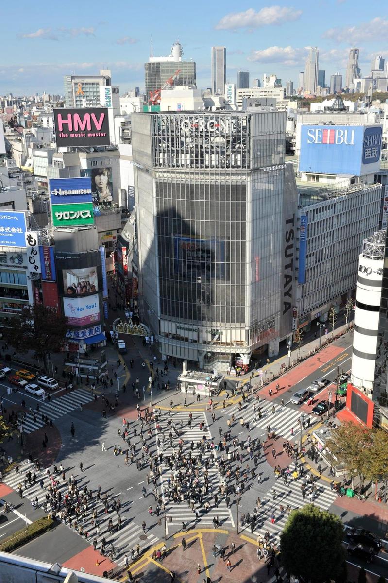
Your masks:
[[[384,8],[386,6],[386,8]],[[179,40],[184,60],[197,66],[197,87],[210,86],[211,45],[227,48],[227,78],[276,73],[294,81],[304,71],[308,47],[318,46],[319,68],[343,73],[350,47],[360,50],[362,75],[372,57],[388,58],[388,7],[369,0],[276,2],[7,2],[0,9],[0,95],[64,94],[64,75],[108,68],[120,93],[144,89],[144,62],[168,55]]]

